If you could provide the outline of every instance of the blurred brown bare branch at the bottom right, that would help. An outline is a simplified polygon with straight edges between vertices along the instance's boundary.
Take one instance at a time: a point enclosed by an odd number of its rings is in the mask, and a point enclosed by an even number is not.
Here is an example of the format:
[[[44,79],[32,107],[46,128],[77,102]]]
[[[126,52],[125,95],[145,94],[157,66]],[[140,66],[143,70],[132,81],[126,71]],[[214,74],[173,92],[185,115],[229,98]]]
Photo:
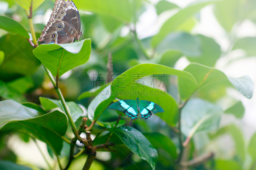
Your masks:
[[[204,154],[201,157],[196,157],[196,158],[194,158],[192,160],[189,160],[189,161],[180,162],[180,166],[183,166],[183,167],[189,167],[189,166],[196,167],[196,166],[201,165],[204,162],[207,162],[210,159],[213,159],[213,157],[214,157],[214,153],[210,152],[210,153]]]

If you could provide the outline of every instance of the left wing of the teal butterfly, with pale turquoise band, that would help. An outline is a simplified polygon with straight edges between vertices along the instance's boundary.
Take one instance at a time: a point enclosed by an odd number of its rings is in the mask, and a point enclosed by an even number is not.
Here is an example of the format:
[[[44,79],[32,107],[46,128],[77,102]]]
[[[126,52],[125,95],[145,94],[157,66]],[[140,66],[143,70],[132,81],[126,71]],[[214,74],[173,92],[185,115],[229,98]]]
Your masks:
[[[132,120],[138,119],[138,107],[136,100],[119,100],[112,103],[108,108],[115,109],[131,118],[130,126],[132,125]]]

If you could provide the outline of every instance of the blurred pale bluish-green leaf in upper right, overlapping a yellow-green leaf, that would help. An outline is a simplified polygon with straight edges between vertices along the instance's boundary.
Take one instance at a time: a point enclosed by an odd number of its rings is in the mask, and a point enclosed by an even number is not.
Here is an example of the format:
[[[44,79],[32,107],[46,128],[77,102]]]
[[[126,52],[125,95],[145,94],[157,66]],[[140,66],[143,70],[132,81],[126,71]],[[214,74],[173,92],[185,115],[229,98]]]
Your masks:
[[[188,33],[170,33],[157,46],[156,52],[165,53],[168,50],[181,51],[188,56],[201,56],[201,43],[198,38]]]

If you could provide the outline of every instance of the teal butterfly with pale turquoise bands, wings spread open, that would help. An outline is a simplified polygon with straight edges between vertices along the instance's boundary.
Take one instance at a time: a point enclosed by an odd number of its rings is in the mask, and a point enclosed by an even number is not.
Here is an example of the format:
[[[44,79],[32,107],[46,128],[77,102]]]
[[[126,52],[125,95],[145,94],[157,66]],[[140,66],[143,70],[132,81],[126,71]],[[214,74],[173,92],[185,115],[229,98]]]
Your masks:
[[[156,103],[148,100],[120,100],[112,103],[109,106],[110,109],[115,109],[124,112],[125,115],[131,118],[130,126],[132,125],[132,120],[138,119],[138,115],[145,120],[148,119],[152,114],[159,112],[164,112],[163,108]]]

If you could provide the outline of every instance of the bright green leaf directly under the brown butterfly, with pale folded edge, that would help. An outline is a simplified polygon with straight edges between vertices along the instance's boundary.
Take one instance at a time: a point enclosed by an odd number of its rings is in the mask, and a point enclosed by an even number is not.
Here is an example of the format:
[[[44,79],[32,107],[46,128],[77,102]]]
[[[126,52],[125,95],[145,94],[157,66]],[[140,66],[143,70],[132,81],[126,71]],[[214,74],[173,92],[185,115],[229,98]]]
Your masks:
[[[91,39],[68,44],[43,44],[33,50],[54,77],[86,63],[91,54]]]

